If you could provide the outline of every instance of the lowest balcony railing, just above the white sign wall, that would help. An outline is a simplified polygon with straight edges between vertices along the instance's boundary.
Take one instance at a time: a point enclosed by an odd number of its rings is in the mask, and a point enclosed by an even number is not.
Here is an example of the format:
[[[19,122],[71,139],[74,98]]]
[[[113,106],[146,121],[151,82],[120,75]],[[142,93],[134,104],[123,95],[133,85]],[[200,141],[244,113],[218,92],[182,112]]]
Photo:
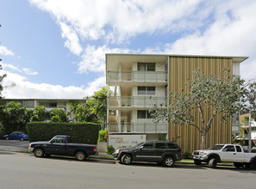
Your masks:
[[[109,123],[109,133],[167,133],[167,123]]]

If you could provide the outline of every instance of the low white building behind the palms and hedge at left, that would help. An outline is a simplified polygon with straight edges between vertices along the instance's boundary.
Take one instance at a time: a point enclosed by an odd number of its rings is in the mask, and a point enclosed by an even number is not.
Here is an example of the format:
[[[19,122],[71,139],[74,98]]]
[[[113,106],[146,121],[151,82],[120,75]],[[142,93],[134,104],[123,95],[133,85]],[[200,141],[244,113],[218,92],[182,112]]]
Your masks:
[[[71,107],[69,106],[70,101],[78,101],[80,104],[83,104],[86,100],[84,99],[5,99],[6,104],[14,101],[20,103],[22,107],[27,107],[29,109],[34,109],[37,106],[43,106],[46,108],[47,116],[46,121],[50,121],[51,111],[57,107],[64,111],[70,112]],[[71,115],[72,118],[72,115]]]

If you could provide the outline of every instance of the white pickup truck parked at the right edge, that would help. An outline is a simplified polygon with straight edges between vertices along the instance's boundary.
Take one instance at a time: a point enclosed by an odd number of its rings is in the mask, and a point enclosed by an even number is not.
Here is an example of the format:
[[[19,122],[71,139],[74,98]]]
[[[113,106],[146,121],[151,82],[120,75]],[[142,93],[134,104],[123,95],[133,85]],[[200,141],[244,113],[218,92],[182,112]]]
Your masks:
[[[207,162],[216,168],[218,162],[233,162],[236,168],[256,168],[256,154],[247,153],[237,144],[215,144],[209,149],[195,150],[193,159],[196,165]]]

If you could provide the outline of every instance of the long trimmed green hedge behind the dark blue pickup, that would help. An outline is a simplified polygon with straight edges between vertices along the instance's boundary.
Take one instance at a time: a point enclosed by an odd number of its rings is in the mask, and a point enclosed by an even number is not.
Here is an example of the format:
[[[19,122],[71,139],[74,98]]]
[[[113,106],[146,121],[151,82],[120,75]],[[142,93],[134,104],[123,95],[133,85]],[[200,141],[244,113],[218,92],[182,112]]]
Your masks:
[[[49,141],[56,135],[69,136],[69,143],[97,144],[100,125],[94,123],[30,122],[27,124],[28,140]]]

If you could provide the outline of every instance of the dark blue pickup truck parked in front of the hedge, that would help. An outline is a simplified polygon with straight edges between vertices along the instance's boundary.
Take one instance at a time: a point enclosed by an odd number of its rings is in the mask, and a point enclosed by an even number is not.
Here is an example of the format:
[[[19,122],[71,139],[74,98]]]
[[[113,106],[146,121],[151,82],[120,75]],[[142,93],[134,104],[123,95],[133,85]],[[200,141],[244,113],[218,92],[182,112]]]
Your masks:
[[[50,141],[29,143],[28,149],[34,152],[35,157],[43,155],[75,156],[83,161],[90,155],[97,155],[97,146],[93,144],[68,143],[68,137],[57,135]]]

